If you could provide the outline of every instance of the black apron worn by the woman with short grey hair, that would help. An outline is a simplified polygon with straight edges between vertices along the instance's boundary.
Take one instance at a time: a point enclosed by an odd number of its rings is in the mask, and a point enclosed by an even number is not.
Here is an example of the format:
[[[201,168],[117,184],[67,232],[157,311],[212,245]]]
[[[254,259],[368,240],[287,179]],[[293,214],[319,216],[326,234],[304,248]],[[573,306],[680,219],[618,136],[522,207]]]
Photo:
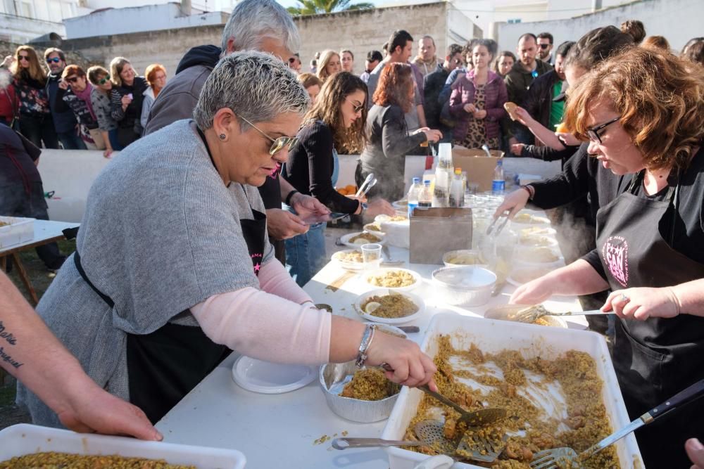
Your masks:
[[[203,134],[201,139],[206,142]],[[210,158],[212,160],[212,156]],[[240,219],[239,222],[254,274],[258,276],[264,257],[266,215],[254,209],[252,214],[253,220]],[[113,300],[89,281],[77,251],[74,261],[84,281],[113,307]],[[150,334],[127,334],[130,402],[142,409],[151,423],[156,423],[231,352],[225,345],[210,340],[198,326],[166,323]]]

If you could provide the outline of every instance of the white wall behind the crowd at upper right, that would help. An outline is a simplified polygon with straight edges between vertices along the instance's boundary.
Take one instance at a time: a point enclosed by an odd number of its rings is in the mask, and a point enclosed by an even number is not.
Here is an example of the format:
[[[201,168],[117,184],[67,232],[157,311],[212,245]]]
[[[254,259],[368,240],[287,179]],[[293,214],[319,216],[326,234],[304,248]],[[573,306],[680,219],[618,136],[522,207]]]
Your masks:
[[[686,41],[702,35],[702,18],[702,0],[643,0],[568,20],[501,25],[498,42],[501,49],[513,51],[524,32],[537,34],[547,31],[555,37],[555,44],[560,44],[562,41],[576,41],[596,27],[619,27],[625,20],[641,20],[648,35],[665,36],[670,45],[679,51]]]

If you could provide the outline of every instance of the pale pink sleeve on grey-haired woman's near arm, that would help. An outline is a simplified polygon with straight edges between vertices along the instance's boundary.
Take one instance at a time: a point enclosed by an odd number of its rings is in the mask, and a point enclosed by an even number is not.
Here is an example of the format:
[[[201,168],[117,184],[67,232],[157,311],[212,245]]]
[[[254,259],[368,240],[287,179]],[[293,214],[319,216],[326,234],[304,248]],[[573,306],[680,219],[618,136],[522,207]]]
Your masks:
[[[325,310],[247,287],[213,295],[191,313],[210,340],[246,356],[305,365],[329,359],[332,318]]]

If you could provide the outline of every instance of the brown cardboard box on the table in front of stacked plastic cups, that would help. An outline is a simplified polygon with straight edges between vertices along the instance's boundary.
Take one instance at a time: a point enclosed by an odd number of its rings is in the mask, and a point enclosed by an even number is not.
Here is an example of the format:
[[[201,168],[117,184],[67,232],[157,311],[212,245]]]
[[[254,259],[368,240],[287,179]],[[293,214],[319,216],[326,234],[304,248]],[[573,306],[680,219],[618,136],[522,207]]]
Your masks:
[[[472,249],[471,208],[415,209],[410,217],[410,262],[442,264],[448,251]]]

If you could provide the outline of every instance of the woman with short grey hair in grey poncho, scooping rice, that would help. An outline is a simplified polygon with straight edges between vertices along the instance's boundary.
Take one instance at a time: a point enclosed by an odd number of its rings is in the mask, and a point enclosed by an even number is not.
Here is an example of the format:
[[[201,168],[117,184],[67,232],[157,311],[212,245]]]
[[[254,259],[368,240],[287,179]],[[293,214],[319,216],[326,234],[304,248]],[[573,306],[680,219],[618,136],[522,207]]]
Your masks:
[[[287,160],[307,107],[280,60],[234,53],[206,80],[195,122],[125,148],[90,190],[73,260],[37,311],[98,385],[152,422],[231,349],[287,364],[357,357],[434,387],[415,343],[316,308],[273,257],[255,186]],[[36,423],[61,425],[21,386],[18,399]]]

